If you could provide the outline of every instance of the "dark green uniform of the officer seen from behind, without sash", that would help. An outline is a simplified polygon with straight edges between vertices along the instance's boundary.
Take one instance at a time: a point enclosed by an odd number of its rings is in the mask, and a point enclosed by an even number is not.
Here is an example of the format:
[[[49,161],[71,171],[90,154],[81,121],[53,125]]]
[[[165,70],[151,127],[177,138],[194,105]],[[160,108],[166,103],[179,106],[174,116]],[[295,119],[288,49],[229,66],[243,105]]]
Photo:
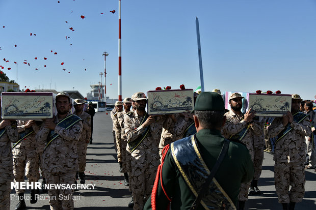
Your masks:
[[[207,168],[212,170],[224,143],[224,137],[221,136],[219,130],[203,129],[196,134],[196,141],[202,159]],[[240,184],[251,181],[253,171],[253,163],[246,146],[241,143],[230,142],[228,151],[215,178],[231,201],[236,205]],[[174,157],[172,157],[171,148],[169,148],[166,154],[162,167],[162,179],[167,195],[170,198],[172,197],[171,209],[190,209],[196,196],[192,193],[185,179],[183,179],[174,161]],[[199,190],[197,189],[197,191]],[[165,210],[168,204],[169,200],[165,196],[160,180],[156,194],[156,209]],[[151,198],[147,200],[144,209],[151,209]],[[202,205],[199,205],[198,209],[204,208]]]

